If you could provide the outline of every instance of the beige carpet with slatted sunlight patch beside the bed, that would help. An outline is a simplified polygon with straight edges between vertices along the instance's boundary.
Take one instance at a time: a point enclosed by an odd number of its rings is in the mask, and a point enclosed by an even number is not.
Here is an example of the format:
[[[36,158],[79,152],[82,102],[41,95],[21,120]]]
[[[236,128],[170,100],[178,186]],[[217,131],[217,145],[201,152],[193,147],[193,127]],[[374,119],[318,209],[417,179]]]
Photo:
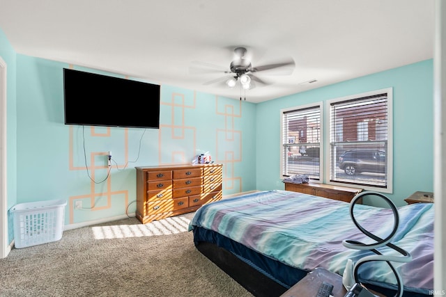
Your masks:
[[[193,214],[68,230],[0,259],[0,296],[252,296],[194,247]]]

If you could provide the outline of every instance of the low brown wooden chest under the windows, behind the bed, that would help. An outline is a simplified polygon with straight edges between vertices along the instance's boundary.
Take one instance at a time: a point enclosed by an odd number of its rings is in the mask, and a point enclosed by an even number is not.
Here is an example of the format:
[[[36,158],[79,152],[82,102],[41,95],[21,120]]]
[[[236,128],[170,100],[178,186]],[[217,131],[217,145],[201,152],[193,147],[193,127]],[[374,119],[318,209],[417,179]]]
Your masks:
[[[293,184],[285,182],[285,190],[315,195],[344,202],[351,202],[353,197],[362,192],[361,188],[332,186],[331,184]]]

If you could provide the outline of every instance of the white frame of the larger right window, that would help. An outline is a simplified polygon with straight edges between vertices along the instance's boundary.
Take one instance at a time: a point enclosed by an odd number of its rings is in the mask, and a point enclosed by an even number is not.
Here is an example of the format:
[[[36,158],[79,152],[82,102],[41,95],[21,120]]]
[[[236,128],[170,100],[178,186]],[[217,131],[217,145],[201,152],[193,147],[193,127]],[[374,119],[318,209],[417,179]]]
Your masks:
[[[363,97],[378,95],[387,93],[387,152],[386,152],[386,159],[387,159],[387,186],[386,187],[380,187],[380,186],[364,186],[363,184],[349,184],[344,182],[332,182],[330,181],[330,172],[331,172],[331,166],[332,161],[330,160],[330,146],[331,146],[331,131],[332,130],[332,104],[335,104],[337,102],[345,102],[352,99],[361,99]],[[338,97],[334,99],[328,99],[325,102],[325,109],[323,113],[323,118],[327,118],[325,121],[325,129],[328,131],[327,135],[324,136],[325,140],[325,146],[323,147],[323,154],[325,156],[325,163],[324,168],[326,170],[323,171],[325,184],[332,184],[336,186],[348,186],[351,188],[362,188],[364,191],[379,191],[382,193],[393,193],[393,88],[384,88],[380,90],[373,90],[366,93],[360,93],[355,95],[348,95],[346,97]]]

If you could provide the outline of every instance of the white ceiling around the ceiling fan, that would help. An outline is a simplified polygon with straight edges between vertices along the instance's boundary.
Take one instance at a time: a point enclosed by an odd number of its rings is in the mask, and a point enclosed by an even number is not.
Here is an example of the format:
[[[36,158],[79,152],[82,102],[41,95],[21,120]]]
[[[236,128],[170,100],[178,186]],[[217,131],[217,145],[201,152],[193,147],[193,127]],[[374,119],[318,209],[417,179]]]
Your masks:
[[[0,0],[0,29],[19,54],[235,99],[194,62],[292,57],[293,74],[258,72],[272,84],[242,93],[262,102],[433,58],[434,1]]]

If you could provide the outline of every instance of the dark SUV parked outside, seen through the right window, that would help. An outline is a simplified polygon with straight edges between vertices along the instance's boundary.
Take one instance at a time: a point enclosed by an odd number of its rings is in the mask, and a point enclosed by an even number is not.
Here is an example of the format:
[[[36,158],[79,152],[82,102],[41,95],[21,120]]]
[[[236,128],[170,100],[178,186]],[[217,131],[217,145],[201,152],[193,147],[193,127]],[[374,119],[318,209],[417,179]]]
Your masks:
[[[347,150],[339,156],[339,168],[346,175],[361,172],[385,173],[385,152],[382,150]]]

